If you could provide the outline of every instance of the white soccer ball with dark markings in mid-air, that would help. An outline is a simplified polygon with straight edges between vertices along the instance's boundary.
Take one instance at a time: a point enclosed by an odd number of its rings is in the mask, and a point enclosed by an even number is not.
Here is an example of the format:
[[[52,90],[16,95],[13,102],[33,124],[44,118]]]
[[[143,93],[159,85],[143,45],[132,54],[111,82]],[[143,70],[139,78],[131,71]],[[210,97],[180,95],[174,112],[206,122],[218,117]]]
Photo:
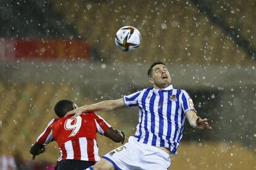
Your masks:
[[[114,42],[122,51],[132,51],[140,46],[140,32],[132,26],[125,26],[116,32]]]

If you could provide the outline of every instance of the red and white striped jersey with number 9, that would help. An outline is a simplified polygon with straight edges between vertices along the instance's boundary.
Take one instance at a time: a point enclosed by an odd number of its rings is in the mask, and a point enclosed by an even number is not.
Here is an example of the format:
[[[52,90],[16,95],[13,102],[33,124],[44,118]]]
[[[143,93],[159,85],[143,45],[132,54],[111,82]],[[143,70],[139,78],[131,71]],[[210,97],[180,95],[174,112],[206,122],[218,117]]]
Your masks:
[[[95,113],[83,113],[75,119],[71,116],[52,119],[36,142],[47,145],[55,140],[62,159],[99,161],[96,132],[104,134],[111,126]]]

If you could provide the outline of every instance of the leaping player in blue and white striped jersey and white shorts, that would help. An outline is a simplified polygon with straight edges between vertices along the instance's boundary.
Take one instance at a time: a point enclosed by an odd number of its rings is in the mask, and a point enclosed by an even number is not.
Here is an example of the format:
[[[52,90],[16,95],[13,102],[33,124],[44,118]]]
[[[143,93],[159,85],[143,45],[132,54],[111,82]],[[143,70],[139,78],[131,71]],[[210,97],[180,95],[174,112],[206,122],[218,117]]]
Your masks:
[[[135,135],[125,145],[110,151],[89,169],[168,169],[170,154],[177,154],[184,121],[198,129],[211,129],[207,119],[197,116],[194,104],[185,90],[171,85],[171,76],[163,62],[155,62],[148,69],[153,87],[124,96],[82,106],[68,115],[82,112],[113,111],[139,107],[139,124]]]

